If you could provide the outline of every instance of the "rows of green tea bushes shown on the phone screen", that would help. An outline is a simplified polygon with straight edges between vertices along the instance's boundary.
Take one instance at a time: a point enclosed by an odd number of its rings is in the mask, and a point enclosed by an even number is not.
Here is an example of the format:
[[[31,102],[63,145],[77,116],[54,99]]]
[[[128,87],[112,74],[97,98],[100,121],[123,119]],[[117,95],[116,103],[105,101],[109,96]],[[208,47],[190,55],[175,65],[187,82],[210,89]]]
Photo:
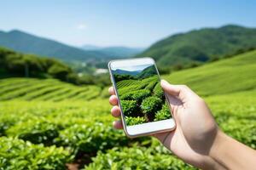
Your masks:
[[[159,77],[143,80],[122,80],[117,83],[126,124],[161,121],[170,118]]]

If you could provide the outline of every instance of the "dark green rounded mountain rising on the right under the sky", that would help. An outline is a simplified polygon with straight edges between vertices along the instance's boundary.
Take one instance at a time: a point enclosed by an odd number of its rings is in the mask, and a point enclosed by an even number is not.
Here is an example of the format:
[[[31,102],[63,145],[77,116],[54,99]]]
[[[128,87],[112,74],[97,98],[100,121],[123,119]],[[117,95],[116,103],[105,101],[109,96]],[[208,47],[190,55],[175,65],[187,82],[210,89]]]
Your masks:
[[[237,50],[256,47],[256,29],[242,26],[203,28],[155,42],[137,57],[152,57],[160,66],[204,63]]]

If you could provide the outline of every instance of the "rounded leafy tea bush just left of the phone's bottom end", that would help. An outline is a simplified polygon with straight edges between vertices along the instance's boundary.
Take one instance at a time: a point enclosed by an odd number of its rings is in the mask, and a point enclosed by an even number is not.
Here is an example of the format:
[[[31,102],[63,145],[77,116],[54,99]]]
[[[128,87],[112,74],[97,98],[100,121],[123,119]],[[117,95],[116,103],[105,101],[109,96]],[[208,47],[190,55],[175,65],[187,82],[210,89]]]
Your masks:
[[[92,122],[66,128],[61,131],[55,142],[58,145],[71,147],[74,152],[91,154],[96,153],[97,150],[127,145],[129,139],[123,132],[114,130],[108,124]]]

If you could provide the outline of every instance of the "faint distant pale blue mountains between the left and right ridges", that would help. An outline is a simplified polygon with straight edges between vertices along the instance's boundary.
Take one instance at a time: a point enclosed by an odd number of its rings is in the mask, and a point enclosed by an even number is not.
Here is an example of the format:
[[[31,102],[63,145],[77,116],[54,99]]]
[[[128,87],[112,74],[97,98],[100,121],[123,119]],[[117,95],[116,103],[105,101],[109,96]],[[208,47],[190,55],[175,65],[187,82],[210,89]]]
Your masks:
[[[82,47],[85,51],[94,50],[102,54],[106,54],[109,58],[128,58],[143,52],[144,48],[127,48],[122,46],[101,48],[93,45],[84,45]]]

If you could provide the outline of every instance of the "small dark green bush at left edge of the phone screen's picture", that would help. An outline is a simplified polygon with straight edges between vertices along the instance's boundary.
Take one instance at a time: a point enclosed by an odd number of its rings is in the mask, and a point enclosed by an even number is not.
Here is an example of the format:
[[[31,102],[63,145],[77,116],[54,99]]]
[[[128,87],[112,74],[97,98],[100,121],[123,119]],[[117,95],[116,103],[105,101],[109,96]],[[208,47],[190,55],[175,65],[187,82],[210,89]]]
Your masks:
[[[137,116],[139,107],[135,100],[121,100],[121,105],[125,116]]]

